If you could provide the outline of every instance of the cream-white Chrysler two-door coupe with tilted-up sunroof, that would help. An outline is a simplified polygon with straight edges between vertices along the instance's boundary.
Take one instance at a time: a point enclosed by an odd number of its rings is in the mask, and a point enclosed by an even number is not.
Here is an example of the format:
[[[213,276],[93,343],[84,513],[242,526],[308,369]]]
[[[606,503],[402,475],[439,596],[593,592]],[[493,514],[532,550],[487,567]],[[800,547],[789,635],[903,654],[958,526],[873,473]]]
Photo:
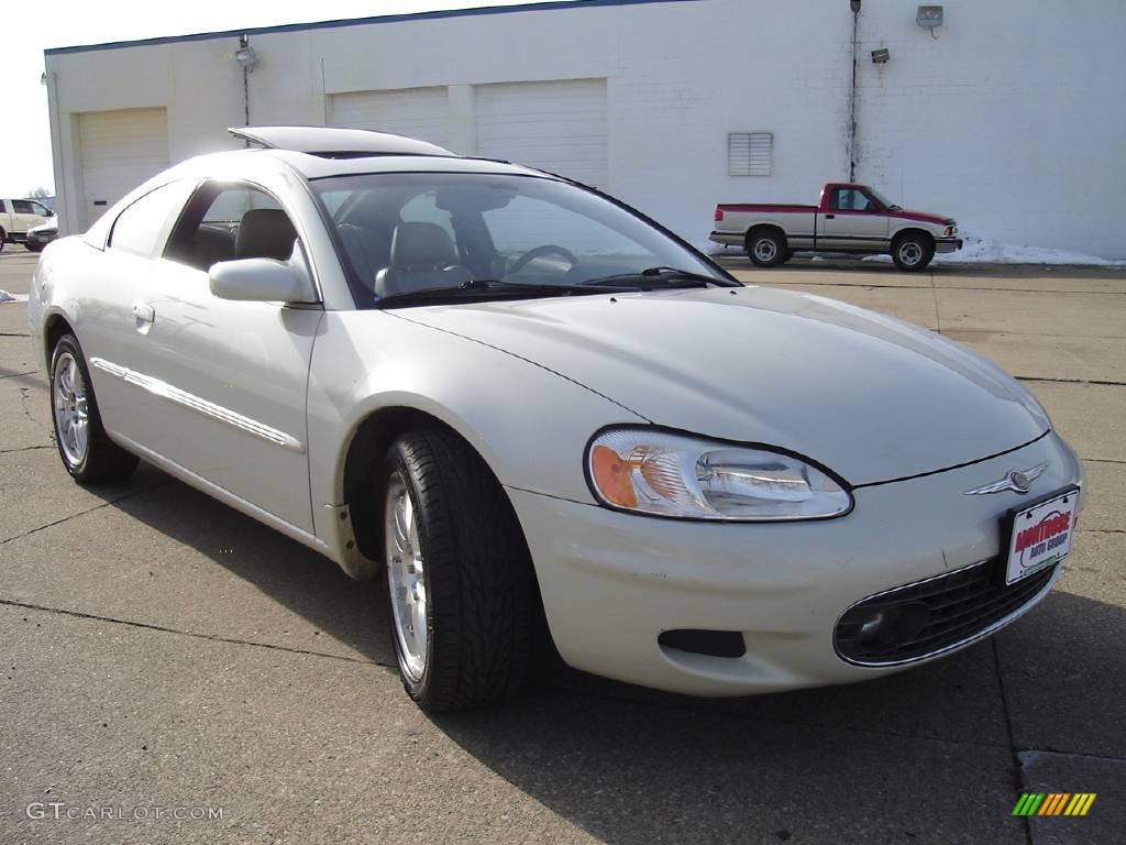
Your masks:
[[[1058,577],[1079,463],[963,347],[743,287],[548,174],[239,132],[276,149],[179,164],[44,254],[59,452],[83,484],[141,456],[385,573],[423,708],[511,693],[540,621],[650,687],[863,681]]]

